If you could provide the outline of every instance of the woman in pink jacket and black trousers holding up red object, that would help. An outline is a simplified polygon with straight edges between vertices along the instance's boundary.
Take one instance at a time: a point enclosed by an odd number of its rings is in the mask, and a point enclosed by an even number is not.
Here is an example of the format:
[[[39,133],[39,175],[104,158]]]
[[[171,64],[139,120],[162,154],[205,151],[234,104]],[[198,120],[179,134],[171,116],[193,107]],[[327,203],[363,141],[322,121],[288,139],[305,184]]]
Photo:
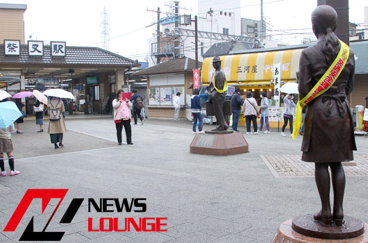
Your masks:
[[[128,99],[123,100],[123,90],[117,90],[116,99],[112,101],[112,107],[114,108],[114,121],[117,133],[117,142],[122,145],[122,131],[123,126],[126,134],[126,143],[133,144],[132,142],[132,128],[131,128],[131,101]]]

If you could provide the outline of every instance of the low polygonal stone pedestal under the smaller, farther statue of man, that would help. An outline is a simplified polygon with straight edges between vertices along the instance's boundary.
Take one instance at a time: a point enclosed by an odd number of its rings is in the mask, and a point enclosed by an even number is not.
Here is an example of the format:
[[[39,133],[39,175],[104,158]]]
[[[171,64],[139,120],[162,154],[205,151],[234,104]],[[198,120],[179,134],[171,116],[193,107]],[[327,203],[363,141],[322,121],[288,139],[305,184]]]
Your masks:
[[[190,153],[229,156],[247,152],[249,145],[242,133],[232,131],[196,133],[190,144]]]

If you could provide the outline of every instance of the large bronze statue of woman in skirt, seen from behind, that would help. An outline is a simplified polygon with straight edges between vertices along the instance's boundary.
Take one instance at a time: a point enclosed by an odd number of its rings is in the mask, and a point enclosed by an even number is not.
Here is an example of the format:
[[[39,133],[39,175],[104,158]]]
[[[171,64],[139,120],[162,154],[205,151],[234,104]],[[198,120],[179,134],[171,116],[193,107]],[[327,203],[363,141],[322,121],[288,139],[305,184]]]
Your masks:
[[[320,80],[327,80],[321,77],[333,67],[328,76],[335,77],[334,83],[323,83],[327,90],[306,106],[301,151],[303,161],[315,162],[315,181],[321,198],[321,210],[314,215],[314,219],[323,224],[341,226],[344,224],[342,202],[345,190],[342,162],[353,160],[353,150],[356,150],[347,99],[353,90],[355,62],[353,50],[350,49],[349,53],[349,47],[333,33],[336,25],[337,13],[331,6],[318,6],[312,12],[312,29],[318,42],[301,53],[299,95],[303,99],[312,94],[310,91],[315,90]],[[321,92],[321,89],[317,91]],[[333,185],[333,212],[328,167],[331,168]]]

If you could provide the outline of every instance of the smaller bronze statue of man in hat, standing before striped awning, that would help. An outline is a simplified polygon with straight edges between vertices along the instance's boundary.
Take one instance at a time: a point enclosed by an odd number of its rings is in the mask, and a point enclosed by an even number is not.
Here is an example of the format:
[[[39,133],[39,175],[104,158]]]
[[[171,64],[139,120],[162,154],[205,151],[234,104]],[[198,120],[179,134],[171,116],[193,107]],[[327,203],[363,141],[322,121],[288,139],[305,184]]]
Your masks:
[[[212,103],[217,122],[217,127],[212,131],[226,131],[228,125],[224,115],[224,100],[227,87],[225,85],[225,73],[221,69],[221,59],[218,56],[212,59],[212,66],[216,69],[216,72],[212,74],[211,83],[207,87],[208,100]]]

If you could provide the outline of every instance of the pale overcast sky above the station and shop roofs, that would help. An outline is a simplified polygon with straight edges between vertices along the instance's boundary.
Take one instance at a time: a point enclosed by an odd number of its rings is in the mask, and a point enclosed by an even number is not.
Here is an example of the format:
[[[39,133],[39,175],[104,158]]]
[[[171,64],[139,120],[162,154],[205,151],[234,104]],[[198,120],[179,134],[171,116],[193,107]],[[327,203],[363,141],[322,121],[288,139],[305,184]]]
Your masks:
[[[161,11],[167,12],[169,8],[169,1],[162,0],[2,0],[1,3],[27,5],[24,13],[26,41],[33,35],[33,39],[43,40],[45,44],[65,41],[67,46],[83,47],[102,47],[101,11],[106,6],[110,17],[109,50],[140,61],[144,61],[149,52],[148,40],[156,28],[150,25],[156,22],[157,13],[149,10],[160,7]],[[274,30],[267,34],[283,34],[273,37],[286,44],[300,44],[303,37],[314,37],[310,13],[317,7],[317,0],[264,0],[263,3],[268,28]],[[187,8],[181,9],[181,14],[198,13],[196,0],[180,1],[180,6]],[[260,0],[240,0],[240,6],[241,17],[260,19]],[[349,1],[349,21],[362,24],[361,28],[368,28],[363,27],[365,6],[368,6],[367,0]],[[293,35],[287,35],[289,33]]]

